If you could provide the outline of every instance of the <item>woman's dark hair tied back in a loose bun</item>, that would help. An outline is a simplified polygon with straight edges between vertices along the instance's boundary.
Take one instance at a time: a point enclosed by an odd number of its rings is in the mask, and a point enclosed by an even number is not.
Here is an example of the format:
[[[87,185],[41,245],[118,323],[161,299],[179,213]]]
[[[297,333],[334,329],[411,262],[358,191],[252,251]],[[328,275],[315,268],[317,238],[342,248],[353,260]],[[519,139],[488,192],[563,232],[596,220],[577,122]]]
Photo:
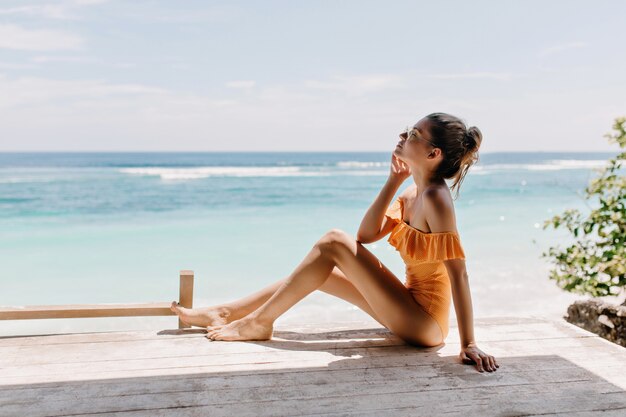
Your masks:
[[[454,178],[450,189],[456,191],[456,198],[467,171],[478,162],[478,148],[483,135],[476,126],[468,128],[461,119],[451,114],[431,113],[426,119],[431,122],[431,141],[443,152],[436,175],[445,179]]]

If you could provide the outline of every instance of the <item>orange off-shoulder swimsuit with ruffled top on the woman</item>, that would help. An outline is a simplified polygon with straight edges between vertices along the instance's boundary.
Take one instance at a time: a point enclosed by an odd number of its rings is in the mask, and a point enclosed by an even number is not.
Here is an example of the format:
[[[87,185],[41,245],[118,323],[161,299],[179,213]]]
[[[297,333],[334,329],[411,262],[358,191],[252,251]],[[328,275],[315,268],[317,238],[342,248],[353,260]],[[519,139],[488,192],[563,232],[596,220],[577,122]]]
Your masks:
[[[424,233],[407,224],[402,216],[403,206],[398,197],[385,213],[395,225],[387,241],[400,252],[406,264],[404,286],[435,319],[445,339],[449,330],[452,293],[443,261],[465,259],[465,253],[456,232]]]

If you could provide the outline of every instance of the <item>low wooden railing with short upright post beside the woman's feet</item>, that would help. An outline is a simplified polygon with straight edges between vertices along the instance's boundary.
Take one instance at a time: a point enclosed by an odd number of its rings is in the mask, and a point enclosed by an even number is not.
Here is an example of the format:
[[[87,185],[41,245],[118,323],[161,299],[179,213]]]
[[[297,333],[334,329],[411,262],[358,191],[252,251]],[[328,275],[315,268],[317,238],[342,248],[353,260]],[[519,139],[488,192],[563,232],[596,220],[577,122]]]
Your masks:
[[[178,302],[193,307],[193,271],[180,271]],[[86,317],[174,316],[171,301],[144,304],[66,304],[0,307],[0,320],[68,319]],[[178,320],[178,328],[191,327]]]

